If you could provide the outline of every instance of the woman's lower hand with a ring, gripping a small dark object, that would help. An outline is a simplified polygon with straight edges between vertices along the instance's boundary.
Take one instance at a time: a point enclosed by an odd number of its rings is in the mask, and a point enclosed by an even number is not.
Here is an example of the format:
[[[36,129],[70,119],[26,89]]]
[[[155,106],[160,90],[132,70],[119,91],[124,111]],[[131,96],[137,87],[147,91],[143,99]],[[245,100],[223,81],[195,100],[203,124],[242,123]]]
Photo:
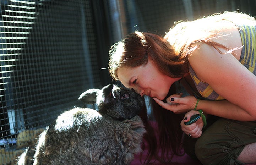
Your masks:
[[[198,111],[189,111],[185,114],[184,120],[181,121],[181,130],[187,134],[189,137],[192,138],[199,138],[202,135],[202,129],[203,129],[203,120],[202,117],[200,117],[199,120],[197,120],[195,123],[192,123],[191,125],[185,125],[184,122],[187,122],[190,120],[190,117],[199,114]]]

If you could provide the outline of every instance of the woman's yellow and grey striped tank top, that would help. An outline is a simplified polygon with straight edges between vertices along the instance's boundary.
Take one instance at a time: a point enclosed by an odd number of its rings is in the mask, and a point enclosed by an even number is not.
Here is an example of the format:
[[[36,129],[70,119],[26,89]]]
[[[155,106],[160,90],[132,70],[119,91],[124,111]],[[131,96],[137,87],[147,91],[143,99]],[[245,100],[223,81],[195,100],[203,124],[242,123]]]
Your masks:
[[[240,36],[242,39],[243,48],[241,50],[240,62],[250,72],[256,75],[256,21],[250,25],[238,25]],[[218,95],[209,84],[202,82],[197,76],[192,67],[189,66],[189,73],[192,77],[198,92],[201,96],[197,98],[204,100],[224,100],[223,97]]]

